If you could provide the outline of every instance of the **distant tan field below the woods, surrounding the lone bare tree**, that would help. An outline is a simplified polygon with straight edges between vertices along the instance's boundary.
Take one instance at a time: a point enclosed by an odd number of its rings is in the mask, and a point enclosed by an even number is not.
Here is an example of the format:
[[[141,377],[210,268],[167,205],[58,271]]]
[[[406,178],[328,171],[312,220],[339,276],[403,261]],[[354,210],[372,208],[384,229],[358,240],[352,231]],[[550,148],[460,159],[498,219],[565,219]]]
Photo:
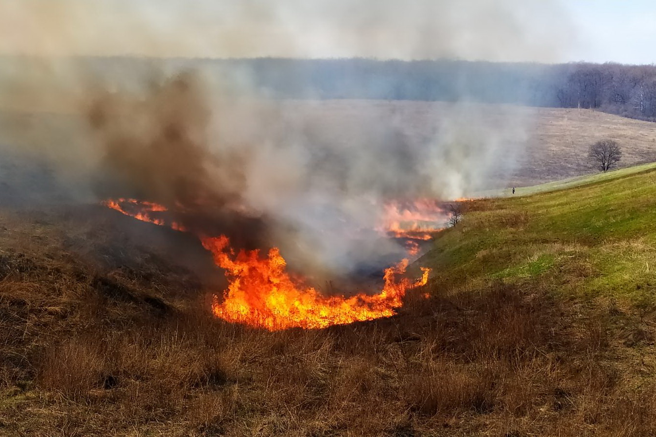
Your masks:
[[[462,112],[444,102],[385,102],[332,100],[327,102],[289,102],[290,113],[302,117],[323,117],[333,140],[348,141],[348,128],[372,121],[394,121],[407,132],[410,142],[422,141],[435,134],[436,126],[451,111]],[[466,126],[484,126],[491,134],[520,124],[526,138],[508,142],[508,153],[502,159],[516,161],[514,174],[497,175],[490,189],[513,185],[537,185],[596,172],[587,158],[590,144],[611,138],[623,148],[621,166],[634,166],[656,161],[656,123],[627,119],[588,109],[514,107],[510,105],[471,104]],[[501,127],[500,127],[501,126]],[[513,128],[517,128],[513,126]],[[496,185],[496,186],[495,186]]]

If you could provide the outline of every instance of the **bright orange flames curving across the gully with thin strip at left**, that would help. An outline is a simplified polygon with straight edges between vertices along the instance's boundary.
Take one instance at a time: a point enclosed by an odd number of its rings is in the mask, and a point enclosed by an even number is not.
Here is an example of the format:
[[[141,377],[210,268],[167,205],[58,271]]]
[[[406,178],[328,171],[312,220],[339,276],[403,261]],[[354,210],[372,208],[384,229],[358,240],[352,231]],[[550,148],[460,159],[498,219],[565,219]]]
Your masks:
[[[153,214],[164,212],[166,208],[152,202],[118,199],[106,200],[103,204],[142,221],[167,225]],[[169,226],[184,231],[177,223],[169,223]],[[260,255],[259,250],[240,250],[236,253],[224,235],[199,238],[203,247],[212,253],[216,265],[224,269],[228,279],[223,299],[214,297],[213,313],[228,322],[272,331],[325,328],[392,316],[403,305],[407,290],[425,285],[430,274],[430,269],[422,267],[419,280],[403,277],[408,266],[408,260],[403,259],[395,267],[385,270],[384,286],[379,294],[328,297],[304,284],[301,278],[287,273],[287,263],[277,248],[271,248],[267,256]]]

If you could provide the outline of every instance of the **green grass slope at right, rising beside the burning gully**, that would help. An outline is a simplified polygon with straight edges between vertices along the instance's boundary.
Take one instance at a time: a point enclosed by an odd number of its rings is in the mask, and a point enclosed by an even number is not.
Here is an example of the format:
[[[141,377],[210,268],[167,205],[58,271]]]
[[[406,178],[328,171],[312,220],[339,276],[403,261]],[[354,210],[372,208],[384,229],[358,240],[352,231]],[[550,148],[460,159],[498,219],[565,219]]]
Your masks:
[[[532,280],[573,295],[653,299],[655,164],[520,188],[467,208],[421,259],[447,289]]]

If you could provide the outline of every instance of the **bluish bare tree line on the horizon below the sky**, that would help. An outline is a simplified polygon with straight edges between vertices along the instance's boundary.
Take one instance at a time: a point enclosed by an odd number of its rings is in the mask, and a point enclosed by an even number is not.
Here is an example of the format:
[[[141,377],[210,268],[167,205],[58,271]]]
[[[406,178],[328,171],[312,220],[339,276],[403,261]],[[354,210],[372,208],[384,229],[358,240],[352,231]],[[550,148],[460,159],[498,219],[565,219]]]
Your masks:
[[[257,58],[211,60],[248,69],[278,98],[472,101],[597,109],[656,121],[656,66]]]

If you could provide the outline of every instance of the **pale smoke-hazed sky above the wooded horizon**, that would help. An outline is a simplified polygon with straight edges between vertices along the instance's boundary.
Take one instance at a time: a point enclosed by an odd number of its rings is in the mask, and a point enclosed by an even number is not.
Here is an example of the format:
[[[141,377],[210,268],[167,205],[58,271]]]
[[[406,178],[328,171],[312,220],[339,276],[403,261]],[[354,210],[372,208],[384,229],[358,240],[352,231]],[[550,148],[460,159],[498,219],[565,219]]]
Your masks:
[[[0,0],[0,54],[656,62],[648,0]]]

